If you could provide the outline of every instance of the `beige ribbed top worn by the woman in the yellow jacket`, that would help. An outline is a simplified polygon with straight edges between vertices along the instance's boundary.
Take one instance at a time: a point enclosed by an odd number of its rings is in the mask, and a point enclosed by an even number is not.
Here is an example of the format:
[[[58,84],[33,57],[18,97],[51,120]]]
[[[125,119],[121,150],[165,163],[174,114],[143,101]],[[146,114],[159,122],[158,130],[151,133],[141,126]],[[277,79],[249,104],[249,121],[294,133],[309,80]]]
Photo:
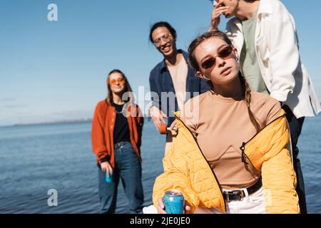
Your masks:
[[[241,160],[242,143],[256,134],[242,99],[224,98],[208,91],[188,100],[181,114],[225,189],[250,187],[260,177],[248,159],[248,165]],[[250,109],[263,128],[278,117],[281,107],[274,98],[251,92]]]

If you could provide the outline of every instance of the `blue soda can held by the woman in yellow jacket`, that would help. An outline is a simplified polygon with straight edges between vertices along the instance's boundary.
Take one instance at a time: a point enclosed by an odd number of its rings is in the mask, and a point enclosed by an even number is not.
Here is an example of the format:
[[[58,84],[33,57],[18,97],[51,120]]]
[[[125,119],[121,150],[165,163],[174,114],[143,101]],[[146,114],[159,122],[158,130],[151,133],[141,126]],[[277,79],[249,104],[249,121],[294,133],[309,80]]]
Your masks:
[[[184,214],[184,197],[182,192],[178,190],[165,192],[163,203],[167,214]]]

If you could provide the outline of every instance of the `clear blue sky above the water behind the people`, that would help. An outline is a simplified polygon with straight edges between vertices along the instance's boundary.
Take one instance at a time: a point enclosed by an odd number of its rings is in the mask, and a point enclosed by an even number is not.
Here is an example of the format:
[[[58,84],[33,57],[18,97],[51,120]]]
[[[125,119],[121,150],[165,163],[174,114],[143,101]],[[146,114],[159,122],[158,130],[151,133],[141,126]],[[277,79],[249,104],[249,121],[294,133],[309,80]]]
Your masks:
[[[282,2],[321,98],[321,1]],[[48,20],[49,4],[58,21]],[[91,118],[114,68],[147,104],[149,73],[163,60],[148,41],[151,25],[168,21],[187,50],[208,30],[212,10],[207,0],[0,0],[0,125]]]

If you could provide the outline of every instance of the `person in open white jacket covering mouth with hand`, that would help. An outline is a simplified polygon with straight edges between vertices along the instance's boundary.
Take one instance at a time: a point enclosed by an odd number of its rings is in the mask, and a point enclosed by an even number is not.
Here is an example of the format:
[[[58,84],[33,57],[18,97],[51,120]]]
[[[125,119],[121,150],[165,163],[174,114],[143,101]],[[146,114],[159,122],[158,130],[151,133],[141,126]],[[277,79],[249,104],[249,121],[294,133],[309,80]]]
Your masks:
[[[295,21],[279,0],[214,0],[210,31],[220,16],[233,17],[226,33],[240,53],[240,71],[250,89],[280,101],[290,125],[300,211],[307,213],[297,140],[305,117],[321,111],[307,69],[300,61]]]

